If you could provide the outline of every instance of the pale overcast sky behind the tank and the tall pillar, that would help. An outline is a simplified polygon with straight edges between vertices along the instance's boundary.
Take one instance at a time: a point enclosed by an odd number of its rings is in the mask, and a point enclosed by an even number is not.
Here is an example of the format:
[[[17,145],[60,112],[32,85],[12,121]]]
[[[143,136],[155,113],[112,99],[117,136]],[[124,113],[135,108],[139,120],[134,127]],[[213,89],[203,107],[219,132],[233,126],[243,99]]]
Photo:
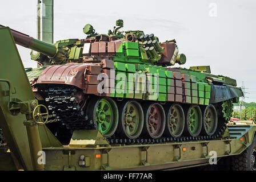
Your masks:
[[[153,33],[160,42],[176,39],[187,57],[182,67],[210,65],[211,73],[243,82],[245,101],[256,102],[255,10],[255,0],[55,0],[54,42],[85,38],[87,23],[106,34],[123,19],[121,30]],[[2,1],[0,24],[37,38],[37,1]],[[29,49],[18,50],[25,67],[37,67]]]

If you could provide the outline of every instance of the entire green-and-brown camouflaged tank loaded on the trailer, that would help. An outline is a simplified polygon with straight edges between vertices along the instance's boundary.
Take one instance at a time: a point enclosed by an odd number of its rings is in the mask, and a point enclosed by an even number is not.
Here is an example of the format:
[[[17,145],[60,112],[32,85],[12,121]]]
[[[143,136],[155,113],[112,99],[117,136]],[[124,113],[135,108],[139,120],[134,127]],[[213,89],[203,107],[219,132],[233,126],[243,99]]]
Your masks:
[[[50,130],[62,141],[74,130],[98,129],[110,143],[215,139],[225,129],[233,102],[243,96],[234,79],[209,66],[186,63],[176,41],[154,34],[98,34],[86,24],[85,39],[49,44],[12,30],[42,66],[27,69],[35,97],[48,107]]]

